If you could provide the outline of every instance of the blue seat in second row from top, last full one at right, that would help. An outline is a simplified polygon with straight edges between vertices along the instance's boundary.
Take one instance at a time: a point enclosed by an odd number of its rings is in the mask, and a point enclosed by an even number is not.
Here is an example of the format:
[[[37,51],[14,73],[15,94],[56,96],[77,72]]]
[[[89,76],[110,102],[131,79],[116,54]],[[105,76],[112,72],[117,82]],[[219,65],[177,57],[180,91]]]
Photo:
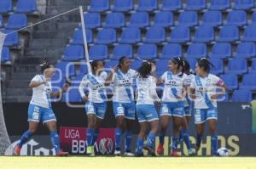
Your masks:
[[[247,24],[247,14],[243,10],[233,10],[228,14],[226,25],[242,26]]]

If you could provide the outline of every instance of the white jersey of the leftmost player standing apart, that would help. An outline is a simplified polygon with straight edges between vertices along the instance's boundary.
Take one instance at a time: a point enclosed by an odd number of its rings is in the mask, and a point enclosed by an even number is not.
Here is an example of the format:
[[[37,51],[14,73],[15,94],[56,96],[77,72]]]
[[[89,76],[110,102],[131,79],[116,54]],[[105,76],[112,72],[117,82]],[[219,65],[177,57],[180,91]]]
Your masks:
[[[31,82],[44,82],[43,75],[36,75]],[[51,108],[50,93],[52,92],[51,82],[46,82],[38,87],[32,88],[32,99],[30,104],[35,104],[44,108]]]

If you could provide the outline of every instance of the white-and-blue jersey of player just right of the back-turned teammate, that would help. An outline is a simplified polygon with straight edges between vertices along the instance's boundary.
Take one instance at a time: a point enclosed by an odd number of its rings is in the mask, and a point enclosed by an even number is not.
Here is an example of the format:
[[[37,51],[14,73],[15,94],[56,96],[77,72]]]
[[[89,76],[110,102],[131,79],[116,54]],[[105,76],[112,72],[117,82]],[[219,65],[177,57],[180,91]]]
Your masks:
[[[166,71],[160,79],[164,82],[163,102],[178,102],[184,101],[183,86],[187,76],[183,74],[172,74],[171,71]]]

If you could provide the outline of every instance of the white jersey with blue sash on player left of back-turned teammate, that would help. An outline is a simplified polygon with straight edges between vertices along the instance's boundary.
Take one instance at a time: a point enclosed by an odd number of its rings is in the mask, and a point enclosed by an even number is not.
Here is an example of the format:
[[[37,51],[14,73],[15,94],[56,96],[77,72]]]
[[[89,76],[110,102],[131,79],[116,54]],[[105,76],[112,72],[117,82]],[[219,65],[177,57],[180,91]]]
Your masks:
[[[135,77],[137,77],[137,71],[131,69],[125,74],[121,70],[113,74],[113,102],[131,103],[134,101],[132,84]]]

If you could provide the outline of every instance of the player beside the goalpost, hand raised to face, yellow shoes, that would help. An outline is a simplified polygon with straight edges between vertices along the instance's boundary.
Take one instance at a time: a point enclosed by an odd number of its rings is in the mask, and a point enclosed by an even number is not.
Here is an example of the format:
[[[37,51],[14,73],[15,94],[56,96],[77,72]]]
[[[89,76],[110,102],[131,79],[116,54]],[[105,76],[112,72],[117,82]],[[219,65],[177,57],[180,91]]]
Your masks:
[[[95,155],[94,143],[99,134],[99,127],[107,110],[107,94],[105,90],[105,80],[108,74],[104,70],[102,60],[94,60],[90,63],[91,73],[84,76],[79,85],[79,93],[85,101],[85,112],[87,114],[88,126],[86,131],[87,154]],[[88,87],[89,95],[84,93],[84,88]]]

